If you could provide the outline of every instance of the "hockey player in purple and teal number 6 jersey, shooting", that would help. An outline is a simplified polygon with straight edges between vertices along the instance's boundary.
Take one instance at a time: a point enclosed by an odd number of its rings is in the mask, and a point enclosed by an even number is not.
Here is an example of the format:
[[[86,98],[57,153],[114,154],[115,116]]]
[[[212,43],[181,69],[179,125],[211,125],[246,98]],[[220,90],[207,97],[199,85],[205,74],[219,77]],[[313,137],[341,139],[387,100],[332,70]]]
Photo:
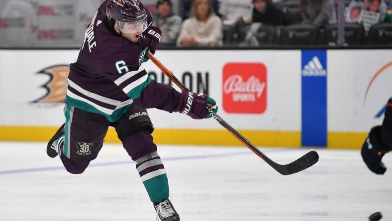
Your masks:
[[[161,31],[139,0],[105,0],[98,8],[77,61],[71,64],[64,113],[49,141],[47,154],[59,155],[66,170],[81,174],[94,160],[109,126],[113,126],[136,169],[158,221],[179,221],[169,201],[164,165],[151,133],[146,108],[208,118],[215,101],[157,83],[139,66],[157,49]],[[217,109],[214,109],[216,112]]]

